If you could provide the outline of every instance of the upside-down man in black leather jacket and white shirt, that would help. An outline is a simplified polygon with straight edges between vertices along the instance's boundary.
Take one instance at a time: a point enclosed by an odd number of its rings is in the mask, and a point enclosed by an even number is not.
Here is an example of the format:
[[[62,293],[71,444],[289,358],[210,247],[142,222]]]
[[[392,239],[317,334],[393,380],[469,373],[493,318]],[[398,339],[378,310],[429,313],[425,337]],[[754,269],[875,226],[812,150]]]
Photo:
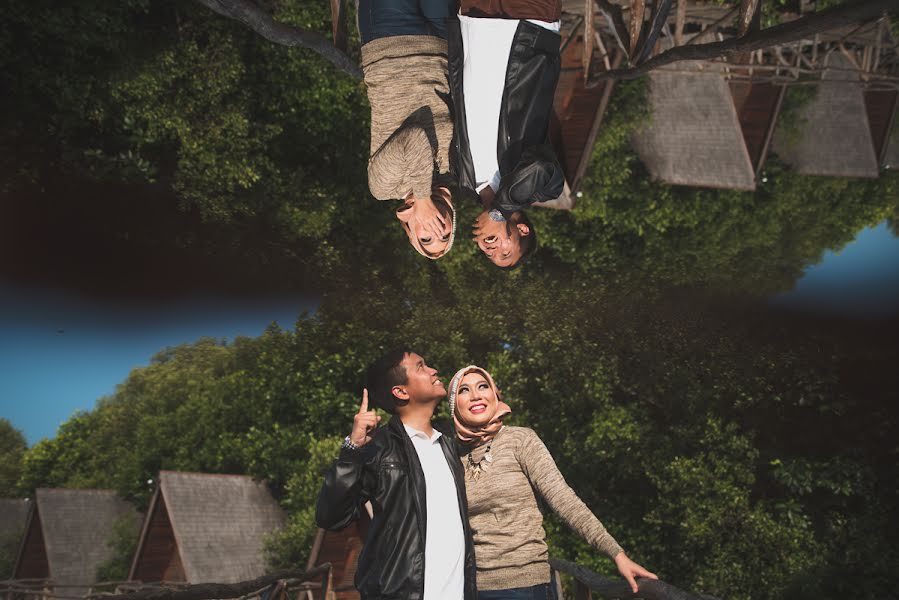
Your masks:
[[[533,239],[535,232],[524,218],[522,210],[534,202],[558,198],[565,184],[562,169],[548,141],[553,97],[561,70],[561,37],[551,29],[552,23],[545,23],[550,28],[536,25],[526,20],[530,18],[526,14],[488,15],[483,11],[471,11],[469,14],[478,18],[466,16],[469,4],[468,0],[462,0],[460,7],[463,14],[459,15],[459,11],[454,11],[447,26],[450,91],[455,123],[453,167],[459,178],[460,188],[463,191],[479,192],[485,208],[474,227],[478,246],[497,266],[514,267],[522,255],[526,254],[523,246],[536,247]],[[561,4],[556,0],[539,4],[557,5],[553,8],[561,13]],[[520,20],[516,20],[516,17]],[[486,87],[483,73],[480,74],[480,79],[465,81],[465,74],[471,75],[473,71],[466,65],[466,56],[475,56],[479,42],[477,36],[483,38],[485,35],[477,32],[490,30],[490,23],[484,28],[478,22],[489,21],[503,21],[503,25],[514,28],[508,61],[503,65],[505,81],[502,82],[495,146],[492,146],[491,138],[491,146],[495,147],[497,153],[498,182],[489,179],[490,176],[484,172],[480,176],[476,173],[479,163],[473,160],[473,142],[469,138],[472,127],[480,129],[483,123],[469,123],[466,114],[466,91],[470,95],[479,95],[479,101],[474,103],[477,108],[480,99],[484,97],[483,88]],[[475,56],[471,60],[478,58]],[[502,74],[498,76],[502,77]],[[489,82],[490,78],[486,81]],[[490,94],[493,92],[488,92],[488,98],[496,101]],[[469,98],[469,106],[472,106],[470,101]],[[487,124],[492,128],[492,123],[494,121]],[[527,237],[532,239],[527,240]]]

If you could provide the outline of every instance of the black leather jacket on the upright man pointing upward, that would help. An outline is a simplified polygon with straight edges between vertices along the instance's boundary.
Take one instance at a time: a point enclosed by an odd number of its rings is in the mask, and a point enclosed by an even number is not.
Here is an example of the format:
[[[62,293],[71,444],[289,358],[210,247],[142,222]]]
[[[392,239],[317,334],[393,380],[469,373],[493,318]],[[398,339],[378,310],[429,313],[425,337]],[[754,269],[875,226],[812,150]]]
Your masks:
[[[475,600],[474,546],[455,436],[440,437],[459,497],[465,535],[465,600]],[[374,516],[356,568],[363,599],[422,600],[425,578],[427,500],[418,454],[399,417],[375,431],[359,450],[342,449],[325,475],[315,521],[337,531],[358,519],[371,501]],[[439,518],[439,516],[438,516]]]

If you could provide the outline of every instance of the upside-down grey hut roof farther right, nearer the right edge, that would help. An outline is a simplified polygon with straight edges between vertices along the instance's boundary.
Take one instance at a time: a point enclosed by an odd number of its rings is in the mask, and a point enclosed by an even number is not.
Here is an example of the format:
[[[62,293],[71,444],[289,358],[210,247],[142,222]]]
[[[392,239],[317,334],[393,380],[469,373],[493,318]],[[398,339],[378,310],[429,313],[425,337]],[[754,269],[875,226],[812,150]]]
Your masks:
[[[877,177],[877,156],[859,73],[834,52],[815,97],[802,110],[806,125],[798,141],[774,134],[774,151],[805,175]]]

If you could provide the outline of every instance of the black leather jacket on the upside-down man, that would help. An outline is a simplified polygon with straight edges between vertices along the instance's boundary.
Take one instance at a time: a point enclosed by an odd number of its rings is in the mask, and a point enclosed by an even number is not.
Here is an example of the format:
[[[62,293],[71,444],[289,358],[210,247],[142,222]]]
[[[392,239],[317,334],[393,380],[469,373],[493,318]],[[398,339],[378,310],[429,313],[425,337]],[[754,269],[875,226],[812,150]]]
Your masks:
[[[462,30],[456,12],[447,24],[449,79],[455,132],[452,166],[459,186],[476,187],[465,117]],[[549,144],[549,121],[559,83],[561,36],[521,21],[512,40],[497,132],[497,159],[502,176],[494,207],[508,218],[534,202],[558,198],[565,176]]]

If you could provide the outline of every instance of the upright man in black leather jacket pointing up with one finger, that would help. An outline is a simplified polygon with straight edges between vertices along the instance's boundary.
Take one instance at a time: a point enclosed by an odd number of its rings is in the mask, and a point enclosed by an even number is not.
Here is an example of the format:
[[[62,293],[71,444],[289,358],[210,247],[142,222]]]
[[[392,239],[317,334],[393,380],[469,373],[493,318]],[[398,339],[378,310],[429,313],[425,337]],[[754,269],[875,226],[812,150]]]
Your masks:
[[[371,502],[373,517],[355,577],[364,600],[475,600],[474,548],[455,435],[431,426],[446,389],[436,370],[405,350],[376,361],[366,379],[352,433],[325,475],[316,523],[340,530]],[[368,410],[369,392],[374,406],[393,415],[386,427],[378,428],[380,417]]]

